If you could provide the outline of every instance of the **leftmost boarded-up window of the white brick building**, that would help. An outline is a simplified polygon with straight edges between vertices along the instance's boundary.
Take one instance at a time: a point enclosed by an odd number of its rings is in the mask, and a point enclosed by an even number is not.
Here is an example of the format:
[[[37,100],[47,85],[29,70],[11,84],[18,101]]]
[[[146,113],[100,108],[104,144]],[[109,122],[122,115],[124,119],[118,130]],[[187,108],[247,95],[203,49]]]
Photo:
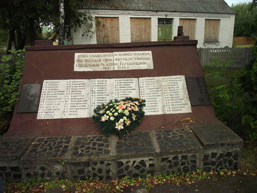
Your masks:
[[[96,17],[98,44],[119,43],[119,17]]]

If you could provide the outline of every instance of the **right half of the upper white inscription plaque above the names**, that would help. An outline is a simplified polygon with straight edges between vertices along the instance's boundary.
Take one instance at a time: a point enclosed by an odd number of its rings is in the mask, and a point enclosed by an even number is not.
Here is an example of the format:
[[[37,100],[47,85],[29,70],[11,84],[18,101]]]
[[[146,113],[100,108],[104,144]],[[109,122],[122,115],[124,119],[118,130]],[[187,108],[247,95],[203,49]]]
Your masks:
[[[114,52],[114,70],[154,69],[152,51]]]

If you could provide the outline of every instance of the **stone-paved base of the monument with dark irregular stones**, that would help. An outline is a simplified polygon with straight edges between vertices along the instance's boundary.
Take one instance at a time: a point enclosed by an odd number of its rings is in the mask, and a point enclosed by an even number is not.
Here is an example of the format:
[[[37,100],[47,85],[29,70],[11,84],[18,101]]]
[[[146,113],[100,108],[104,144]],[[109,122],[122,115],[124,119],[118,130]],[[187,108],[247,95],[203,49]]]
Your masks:
[[[145,177],[240,167],[243,141],[225,125],[116,135],[0,139],[4,181]]]

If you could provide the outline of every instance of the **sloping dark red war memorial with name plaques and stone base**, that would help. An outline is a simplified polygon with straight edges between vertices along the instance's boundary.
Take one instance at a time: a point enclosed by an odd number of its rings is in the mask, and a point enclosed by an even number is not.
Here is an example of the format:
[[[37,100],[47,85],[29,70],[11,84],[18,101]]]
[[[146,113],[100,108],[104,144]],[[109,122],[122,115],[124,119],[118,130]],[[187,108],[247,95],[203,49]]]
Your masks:
[[[18,141],[20,150],[6,150],[0,166],[18,180],[52,179],[53,171],[58,178],[111,179],[237,169],[243,142],[215,117],[196,44],[175,37],[27,47],[20,100],[0,141],[1,147]],[[124,137],[103,135],[90,118],[94,109],[125,97],[145,99],[141,124]],[[179,127],[179,120],[188,125]],[[60,168],[57,160],[67,164]]]

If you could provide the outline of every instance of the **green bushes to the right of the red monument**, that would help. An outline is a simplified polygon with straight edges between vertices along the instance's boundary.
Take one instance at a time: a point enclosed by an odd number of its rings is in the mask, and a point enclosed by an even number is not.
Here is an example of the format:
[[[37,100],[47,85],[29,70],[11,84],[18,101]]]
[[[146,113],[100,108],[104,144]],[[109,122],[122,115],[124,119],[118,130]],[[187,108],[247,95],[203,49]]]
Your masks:
[[[257,46],[253,51],[255,60],[241,70],[222,60],[204,67],[217,118],[250,142],[257,139]]]

